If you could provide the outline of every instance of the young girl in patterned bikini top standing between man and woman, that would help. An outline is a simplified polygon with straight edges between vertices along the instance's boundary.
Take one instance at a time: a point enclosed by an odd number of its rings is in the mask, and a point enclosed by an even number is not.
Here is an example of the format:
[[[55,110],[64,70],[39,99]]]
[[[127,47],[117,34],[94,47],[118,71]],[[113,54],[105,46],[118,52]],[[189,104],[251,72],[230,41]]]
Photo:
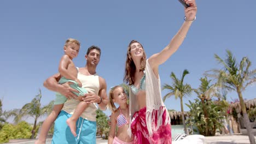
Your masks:
[[[129,105],[126,103],[127,95],[123,87],[115,86],[109,91],[109,109],[112,111],[110,117],[111,125],[108,135],[108,143],[132,144],[133,136],[129,136],[127,130],[129,128]],[[115,104],[119,107],[115,107]],[[117,134],[115,135],[116,125],[118,126]]]

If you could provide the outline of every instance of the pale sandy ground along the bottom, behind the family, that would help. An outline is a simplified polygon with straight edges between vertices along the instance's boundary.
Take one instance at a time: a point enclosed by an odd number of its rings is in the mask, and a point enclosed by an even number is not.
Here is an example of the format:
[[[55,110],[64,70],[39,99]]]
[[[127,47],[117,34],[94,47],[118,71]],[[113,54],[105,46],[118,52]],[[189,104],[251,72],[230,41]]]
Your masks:
[[[256,136],[254,136],[256,139]],[[36,140],[10,140],[9,143],[15,144],[33,144]],[[47,139],[46,144],[51,143],[51,139]],[[102,140],[97,137],[97,144],[107,144],[107,140]],[[207,136],[205,137],[205,144],[247,144],[249,137],[246,135],[225,135],[225,136]]]

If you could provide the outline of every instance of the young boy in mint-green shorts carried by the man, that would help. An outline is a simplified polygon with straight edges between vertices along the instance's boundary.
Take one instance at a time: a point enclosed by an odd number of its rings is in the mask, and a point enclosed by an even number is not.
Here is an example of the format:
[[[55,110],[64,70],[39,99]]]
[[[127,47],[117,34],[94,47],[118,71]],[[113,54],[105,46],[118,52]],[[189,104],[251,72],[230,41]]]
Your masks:
[[[66,40],[65,46],[64,46],[64,52],[65,55],[62,56],[60,64],[59,64],[59,73],[61,75],[61,79],[59,80],[59,83],[65,83],[69,82],[70,86],[78,91],[78,93],[75,93],[76,95],[84,95],[88,93],[85,88],[82,88],[82,83],[77,79],[78,69],[75,68],[75,65],[72,61],[73,58],[78,56],[78,52],[80,49],[80,43],[78,40],[69,38]],[[80,117],[82,112],[86,109],[88,104],[86,104],[85,101],[82,101],[82,97],[78,97],[78,99],[81,101],[77,108],[75,109],[73,115],[71,118],[67,119],[67,124],[69,128],[71,129],[71,133],[74,136],[77,136],[75,133],[76,131],[76,125],[75,122]],[[59,115],[63,104],[67,98],[64,95],[61,95],[60,93],[56,93],[56,99],[54,101],[54,107],[53,111],[50,113],[50,115],[45,119],[42,130],[39,134],[39,139],[36,141],[36,144],[39,143],[45,143],[46,136],[48,134],[48,131]]]

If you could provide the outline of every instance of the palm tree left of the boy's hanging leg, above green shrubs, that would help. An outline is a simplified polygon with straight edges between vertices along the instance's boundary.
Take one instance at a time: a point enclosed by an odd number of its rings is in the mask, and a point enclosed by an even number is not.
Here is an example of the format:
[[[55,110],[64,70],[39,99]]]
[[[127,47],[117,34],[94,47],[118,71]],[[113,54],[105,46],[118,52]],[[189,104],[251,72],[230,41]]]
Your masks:
[[[18,123],[22,117],[30,116],[34,118],[33,129],[31,131],[31,139],[34,139],[34,135],[36,133],[37,127],[37,119],[41,116],[47,115],[52,111],[53,101],[51,101],[48,105],[41,107],[40,100],[42,98],[41,90],[39,89],[39,94],[34,97],[30,103],[22,106],[21,109],[15,109],[10,111],[9,116],[14,116],[15,123]]]

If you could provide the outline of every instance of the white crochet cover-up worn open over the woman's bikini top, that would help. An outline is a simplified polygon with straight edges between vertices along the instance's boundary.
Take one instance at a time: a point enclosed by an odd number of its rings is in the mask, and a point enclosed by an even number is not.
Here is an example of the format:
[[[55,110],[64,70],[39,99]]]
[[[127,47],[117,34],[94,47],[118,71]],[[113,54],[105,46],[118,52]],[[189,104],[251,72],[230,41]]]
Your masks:
[[[131,127],[131,119],[136,111],[138,111],[138,104],[136,101],[136,95],[131,92],[131,87],[129,91],[129,109],[130,109],[130,127]],[[155,76],[152,68],[148,63],[148,59],[146,61],[146,121],[147,121],[147,129],[149,131],[149,135],[152,136],[153,131],[157,131],[160,125],[162,125],[162,115],[166,109],[164,102],[161,97],[161,82]],[[157,124],[155,125],[155,117],[157,119]],[[170,124],[171,119],[166,112],[165,125]],[[127,130],[128,134],[131,135],[131,129]]]

